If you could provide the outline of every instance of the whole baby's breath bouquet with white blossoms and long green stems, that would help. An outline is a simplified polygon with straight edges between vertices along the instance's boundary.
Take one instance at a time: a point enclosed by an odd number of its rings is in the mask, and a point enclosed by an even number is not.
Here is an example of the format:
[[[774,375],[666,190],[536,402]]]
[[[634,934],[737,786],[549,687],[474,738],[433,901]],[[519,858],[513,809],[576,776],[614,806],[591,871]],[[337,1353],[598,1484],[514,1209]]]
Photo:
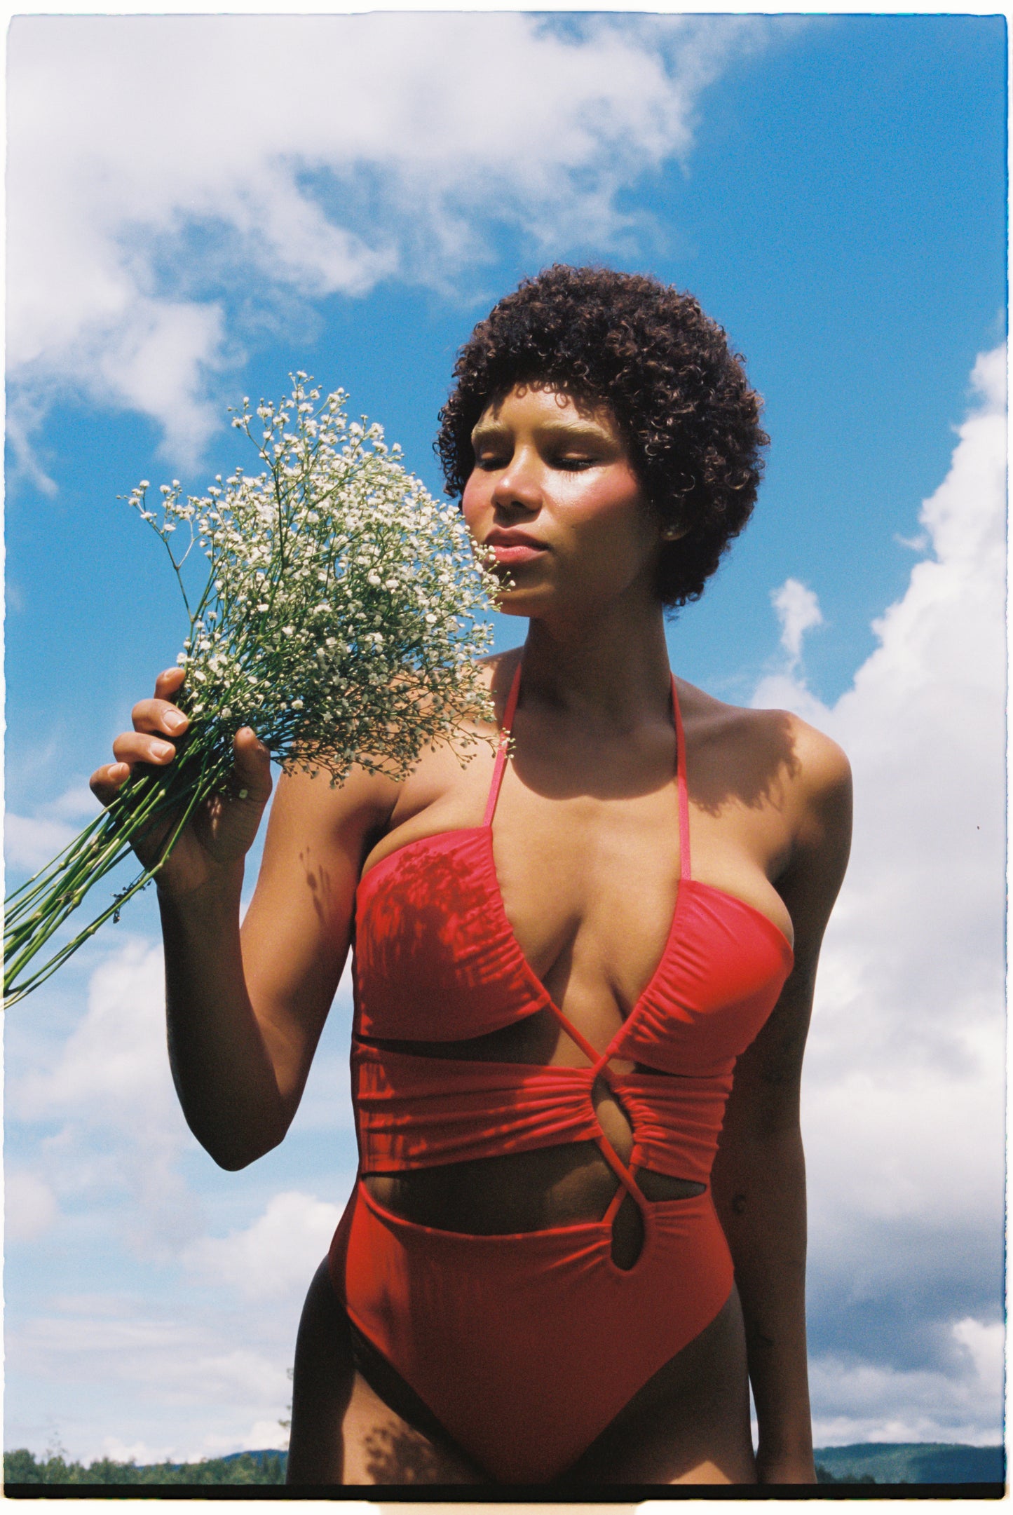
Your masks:
[[[286,400],[251,411],[247,398],[233,415],[259,473],[217,476],[203,498],[185,497],[177,479],[157,501],[147,480],[129,495],[165,544],[189,615],[176,703],[191,726],[168,768],[135,768],[103,815],[6,901],[8,1004],[157,874],[194,809],[227,791],[241,726],[283,767],[338,783],[353,765],[401,779],[424,747],[474,745],[472,723],[492,718],[474,658],[491,642],[478,617],[497,579],[477,562],[457,509],[406,471],[382,427],[348,423],[344,391],[321,401],[307,383],[294,374]],[[188,595],[191,554],[209,573]],[[130,838],[165,815],[157,862],[32,968]]]

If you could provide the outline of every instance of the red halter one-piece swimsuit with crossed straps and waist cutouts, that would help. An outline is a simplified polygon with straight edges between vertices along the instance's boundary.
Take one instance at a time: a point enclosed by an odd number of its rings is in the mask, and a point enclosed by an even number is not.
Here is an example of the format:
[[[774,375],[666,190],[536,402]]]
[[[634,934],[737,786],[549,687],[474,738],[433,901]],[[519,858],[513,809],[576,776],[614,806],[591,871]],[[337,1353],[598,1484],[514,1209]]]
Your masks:
[[[507,703],[509,735],[519,670]],[[604,1051],[559,1011],[503,909],[492,817],[389,853],[356,895],[351,1051],[360,1176],[594,1141],[619,1179],[600,1221],[474,1236],[386,1210],[359,1180],[332,1245],[353,1324],[491,1479],[565,1471],[647,1380],[715,1318],[733,1283],[709,1188],[647,1200],[633,1170],[709,1183],[734,1060],[771,1014],[792,948],[760,911],[690,874],[686,744],[675,683],[680,880],[654,974]],[[460,1062],[363,1038],[453,1042],[548,1011],[586,1068]],[[616,1073],[613,1057],[651,1071]],[[633,1126],[630,1165],[592,1104],[606,1079]],[[631,1268],[612,1259],[624,1194],[644,1217]]]

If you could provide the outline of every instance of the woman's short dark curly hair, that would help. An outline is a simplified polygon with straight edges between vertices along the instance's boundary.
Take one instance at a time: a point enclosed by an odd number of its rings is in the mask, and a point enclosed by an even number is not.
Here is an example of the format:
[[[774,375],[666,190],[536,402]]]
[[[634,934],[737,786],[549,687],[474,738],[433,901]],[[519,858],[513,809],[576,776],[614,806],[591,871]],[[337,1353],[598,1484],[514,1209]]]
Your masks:
[[[760,397],[725,332],[689,294],[644,274],[554,264],[506,295],[457,355],[435,448],[460,495],[471,432],[518,383],[544,383],[612,409],[630,462],[666,526],[657,595],[698,600],[750,520],[763,471]]]

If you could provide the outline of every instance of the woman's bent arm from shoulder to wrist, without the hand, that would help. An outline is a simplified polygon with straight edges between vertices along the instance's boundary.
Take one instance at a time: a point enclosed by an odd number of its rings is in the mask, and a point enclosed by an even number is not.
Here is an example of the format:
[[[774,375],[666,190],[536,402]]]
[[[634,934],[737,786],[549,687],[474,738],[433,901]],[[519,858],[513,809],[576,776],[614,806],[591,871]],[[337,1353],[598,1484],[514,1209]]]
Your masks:
[[[348,953],[368,838],[392,800],[354,774],[283,776],[242,930],[242,868],[159,892],[168,1047],[186,1121],[223,1168],[285,1136]]]

